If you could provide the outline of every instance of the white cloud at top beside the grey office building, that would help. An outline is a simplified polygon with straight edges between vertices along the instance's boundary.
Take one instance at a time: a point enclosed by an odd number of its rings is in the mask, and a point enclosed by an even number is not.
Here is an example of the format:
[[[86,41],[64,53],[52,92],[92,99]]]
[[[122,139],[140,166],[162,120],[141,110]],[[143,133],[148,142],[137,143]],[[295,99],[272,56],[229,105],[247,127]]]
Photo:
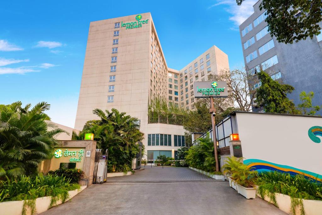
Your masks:
[[[250,15],[254,13],[253,5],[258,2],[258,0],[245,0],[242,5],[238,6],[235,0],[218,0],[216,4],[209,7],[215,7],[218,5],[227,5],[225,10],[232,16],[229,20],[234,22],[236,26],[242,24]]]

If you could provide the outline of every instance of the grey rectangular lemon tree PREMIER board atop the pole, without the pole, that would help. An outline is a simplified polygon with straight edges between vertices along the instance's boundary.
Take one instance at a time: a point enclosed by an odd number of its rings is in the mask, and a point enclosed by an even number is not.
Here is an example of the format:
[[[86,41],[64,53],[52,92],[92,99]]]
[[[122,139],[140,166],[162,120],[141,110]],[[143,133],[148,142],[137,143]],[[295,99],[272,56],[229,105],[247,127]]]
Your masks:
[[[194,82],[195,98],[227,98],[228,89],[225,81],[197,81]]]

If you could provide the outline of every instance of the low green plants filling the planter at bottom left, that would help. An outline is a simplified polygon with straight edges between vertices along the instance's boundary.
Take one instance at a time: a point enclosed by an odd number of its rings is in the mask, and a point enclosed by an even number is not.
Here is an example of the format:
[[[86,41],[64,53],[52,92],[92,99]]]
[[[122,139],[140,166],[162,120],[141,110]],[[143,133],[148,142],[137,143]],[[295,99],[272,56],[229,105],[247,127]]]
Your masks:
[[[6,180],[0,181],[0,202],[33,200],[44,196],[54,196],[61,199],[68,191],[80,188],[79,184],[71,184],[65,176],[47,175],[28,177],[22,175],[15,179],[6,176]],[[26,205],[32,202],[25,203]]]

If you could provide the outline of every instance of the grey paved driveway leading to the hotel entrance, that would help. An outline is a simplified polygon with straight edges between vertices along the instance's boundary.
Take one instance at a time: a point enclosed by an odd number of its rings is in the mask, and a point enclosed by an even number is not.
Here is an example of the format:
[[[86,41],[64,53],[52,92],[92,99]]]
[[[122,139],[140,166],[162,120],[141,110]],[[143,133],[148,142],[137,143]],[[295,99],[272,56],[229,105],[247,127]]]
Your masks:
[[[42,214],[285,214],[260,198],[246,200],[228,182],[196,176],[188,168],[159,168],[118,177],[119,182],[115,177],[114,183],[94,184]],[[156,176],[168,181],[152,182]],[[151,181],[144,182],[145,177]],[[192,178],[198,180],[187,180]],[[186,182],[175,182],[177,179]]]

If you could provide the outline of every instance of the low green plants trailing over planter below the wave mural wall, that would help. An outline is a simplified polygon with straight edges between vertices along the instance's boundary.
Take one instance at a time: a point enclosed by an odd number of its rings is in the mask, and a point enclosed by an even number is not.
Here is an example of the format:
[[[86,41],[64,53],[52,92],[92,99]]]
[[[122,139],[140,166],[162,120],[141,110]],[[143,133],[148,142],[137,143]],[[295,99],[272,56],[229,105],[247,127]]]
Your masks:
[[[291,197],[291,212],[295,214],[300,207],[301,215],[304,215],[302,199],[322,200],[322,183],[316,179],[305,178],[303,175],[290,175],[278,171],[262,172],[258,178],[258,194],[264,198],[268,196],[275,206],[275,193],[289,195]]]

